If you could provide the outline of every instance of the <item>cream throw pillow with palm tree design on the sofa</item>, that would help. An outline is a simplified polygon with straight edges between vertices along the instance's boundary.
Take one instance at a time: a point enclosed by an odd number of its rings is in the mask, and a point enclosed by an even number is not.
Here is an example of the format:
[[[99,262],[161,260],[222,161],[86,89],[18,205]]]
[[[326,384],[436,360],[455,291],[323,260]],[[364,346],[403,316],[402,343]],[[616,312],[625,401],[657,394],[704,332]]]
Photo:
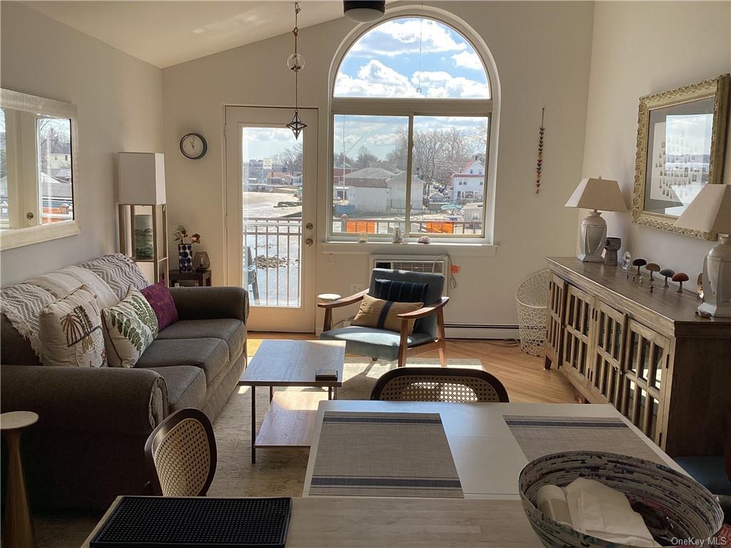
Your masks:
[[[81,368],[107,365],[102,317],[96,295],[88,286],[46,305],[38,315],[38,324],[42,364]]]

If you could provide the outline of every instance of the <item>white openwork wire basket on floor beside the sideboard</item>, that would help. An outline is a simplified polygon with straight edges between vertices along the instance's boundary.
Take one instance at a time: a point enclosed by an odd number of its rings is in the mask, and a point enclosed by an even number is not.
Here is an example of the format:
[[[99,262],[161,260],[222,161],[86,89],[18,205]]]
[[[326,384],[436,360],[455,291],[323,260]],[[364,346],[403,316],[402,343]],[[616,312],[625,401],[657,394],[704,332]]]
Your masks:
[[[518,304],[520,349],[533,356],[545,354],[549,280],[550,271],[541,270],[523,281],[515,291],[515,302]]]

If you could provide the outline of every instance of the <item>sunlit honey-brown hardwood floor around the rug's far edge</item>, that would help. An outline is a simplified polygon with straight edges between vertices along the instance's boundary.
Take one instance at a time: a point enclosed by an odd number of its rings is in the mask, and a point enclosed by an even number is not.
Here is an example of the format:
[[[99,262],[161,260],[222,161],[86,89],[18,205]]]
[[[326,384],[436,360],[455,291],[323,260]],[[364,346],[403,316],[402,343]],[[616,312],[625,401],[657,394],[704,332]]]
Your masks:
[[[311,333],[250,332],[248,351],[253,356],[264,339],[315,339]],[[436,351],[420,357],[438,358]],[[447,340],[447,359],[480,359],[482,367],[505,385],[511,402],[573,403],[574,389],[558,370],[545,370],[543,359],[520,351],[507,340]]]

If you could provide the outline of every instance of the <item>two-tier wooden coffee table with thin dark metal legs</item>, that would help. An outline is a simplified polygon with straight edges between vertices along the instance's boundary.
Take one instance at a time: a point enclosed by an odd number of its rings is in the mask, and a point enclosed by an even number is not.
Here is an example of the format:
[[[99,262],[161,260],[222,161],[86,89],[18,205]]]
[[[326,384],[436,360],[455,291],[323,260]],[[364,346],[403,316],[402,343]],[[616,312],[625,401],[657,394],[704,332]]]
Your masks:
[[[259,448],[308,448],[317,406],[343,385],[345,343],[337,340],[265,340],[238,381],[251,387],[251,463]],[[336,381],[315,381],[318,369],[334,369]],[[269,408],[257,435],[257,387],[269,387]],[[324,392],[276,392],[273,387],[327,387]]]

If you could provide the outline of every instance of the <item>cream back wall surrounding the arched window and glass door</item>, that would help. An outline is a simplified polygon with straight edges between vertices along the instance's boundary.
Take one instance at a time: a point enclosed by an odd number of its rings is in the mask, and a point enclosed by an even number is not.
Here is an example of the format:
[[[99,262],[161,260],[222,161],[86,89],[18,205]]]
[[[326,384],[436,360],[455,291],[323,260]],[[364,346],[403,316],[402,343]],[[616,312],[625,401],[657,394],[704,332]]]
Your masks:
[[[591,26],[594,7],[585,2],[441,2],[477,31],[491,50],[501,83],[501,120],[496,184],[494,256],[459,249],[458,288],[451,292],[447,322],[515,324],[515,288],[544,266],[545,255],[575,251],[575,212],[564,202],[581,176],[586,128]],[[303,4],[303,9],[307,5]],[[324,238],[327,197],[327,82],[330,63],[354,23],[339,19],[300,31],[306,68],[300,75],[300,104],[319,108],[318,220]],[[292,104],[292,74],[285,61],[291,34],[238,47],[163,69],[164,142],[171,224],[200,232],[213,283],[223,281],[222,189],[223,104]],[[543,184],[535,193],[535,162],[541,108],[546,107]],[[178,141],[186,132],[208,140],[200,160],[183,158]],[[444,251],[433,246],[416,253]],[[352,246],[350,247],[352,248]],[[404,248],[400,248],[403,250]],[[170,248],[171,256],[174,249]],[[323,253],[336,254],[334,264]],[[319,246],[316,292],[347,294],[351,283],[368,281],[368,253],[344,254]]]

